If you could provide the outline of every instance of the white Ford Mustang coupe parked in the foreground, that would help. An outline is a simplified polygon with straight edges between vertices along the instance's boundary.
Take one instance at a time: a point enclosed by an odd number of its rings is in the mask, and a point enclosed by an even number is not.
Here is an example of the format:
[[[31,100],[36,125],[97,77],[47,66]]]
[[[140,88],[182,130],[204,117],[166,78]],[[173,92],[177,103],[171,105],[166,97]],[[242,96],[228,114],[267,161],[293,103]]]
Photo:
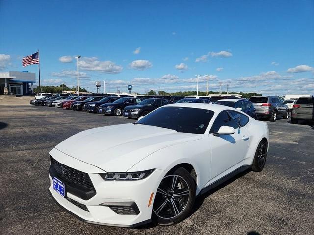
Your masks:
[[[234,108],[166,105],[55,146],[49,191],[85,222],[170,225],[189,215],[196,196],[248,168],[261,171],[268,141],[266,123]]]

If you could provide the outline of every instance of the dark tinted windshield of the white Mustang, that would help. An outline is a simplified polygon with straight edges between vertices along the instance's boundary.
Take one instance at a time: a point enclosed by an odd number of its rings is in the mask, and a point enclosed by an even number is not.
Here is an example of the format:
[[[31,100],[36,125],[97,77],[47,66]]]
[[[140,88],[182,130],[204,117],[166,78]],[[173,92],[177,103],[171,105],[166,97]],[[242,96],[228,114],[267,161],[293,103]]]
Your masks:
[[[177,132],[204,134],[214,112],[187,107],[162,107],[135,124],[157,126]]]

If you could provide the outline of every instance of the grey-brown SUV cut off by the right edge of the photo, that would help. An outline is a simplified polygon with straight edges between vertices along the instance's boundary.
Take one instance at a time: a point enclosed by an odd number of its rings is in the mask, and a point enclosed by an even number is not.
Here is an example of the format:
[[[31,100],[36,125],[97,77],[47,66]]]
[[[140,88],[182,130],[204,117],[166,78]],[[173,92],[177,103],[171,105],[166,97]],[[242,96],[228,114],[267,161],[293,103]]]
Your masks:
[[[301,97],[293,105],[291,123],[297,124],[299,120],[314,121],[314,97]]]

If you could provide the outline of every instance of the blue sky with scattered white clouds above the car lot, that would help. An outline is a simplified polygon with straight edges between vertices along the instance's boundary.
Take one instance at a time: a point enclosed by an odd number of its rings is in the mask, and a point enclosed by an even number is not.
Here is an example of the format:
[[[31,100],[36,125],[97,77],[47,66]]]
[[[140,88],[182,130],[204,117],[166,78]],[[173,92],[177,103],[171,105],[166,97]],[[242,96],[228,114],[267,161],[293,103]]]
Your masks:
[[[0,1],[1,71],[43,85],[314,94],[314,1]],[[102,88],[101,88],[102,89]]]

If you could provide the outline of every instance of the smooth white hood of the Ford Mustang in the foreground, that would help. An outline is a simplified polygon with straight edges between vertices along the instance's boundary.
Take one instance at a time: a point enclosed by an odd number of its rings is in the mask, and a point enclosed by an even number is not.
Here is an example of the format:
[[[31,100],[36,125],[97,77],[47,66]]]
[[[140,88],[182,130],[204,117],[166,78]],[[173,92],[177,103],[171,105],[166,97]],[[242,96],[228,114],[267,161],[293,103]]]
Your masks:
[[[159,149],[198,139],[201,135],[129,123],[79,132],[55,148],[106,172],[126,172]]]

